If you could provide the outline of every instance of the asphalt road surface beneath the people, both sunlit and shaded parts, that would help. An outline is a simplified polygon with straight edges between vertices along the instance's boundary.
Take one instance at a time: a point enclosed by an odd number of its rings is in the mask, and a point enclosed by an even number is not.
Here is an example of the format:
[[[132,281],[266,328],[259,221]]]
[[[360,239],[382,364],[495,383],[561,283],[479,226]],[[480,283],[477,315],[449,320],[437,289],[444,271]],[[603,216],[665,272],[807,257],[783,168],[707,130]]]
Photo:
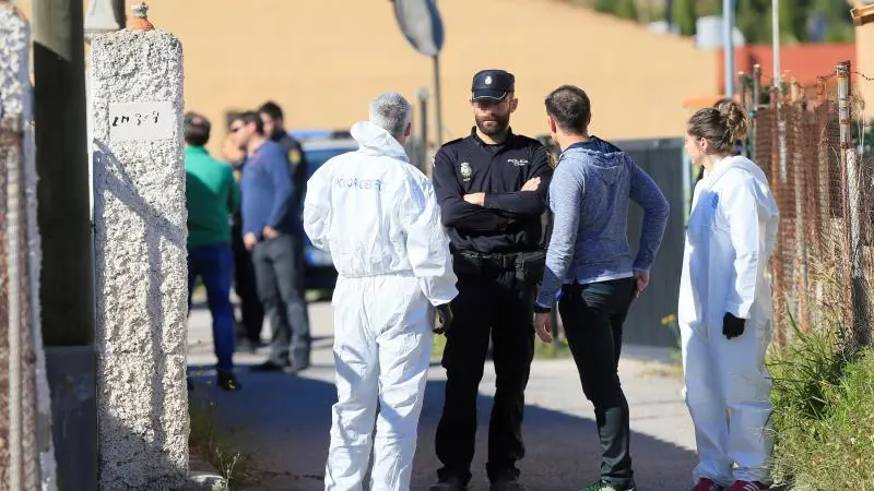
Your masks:
[[[303,376],[261,374],[249,366],[264,354],[236,356],[241,392],[225,393],[214,384],[209,312],[196,309],[189,321],[189,370],[200,374],[194,397],[216,404],[220,426],[234,444],[253,455],[260,482],[238,489],[263,491],[322,490],[329,443],[333,385],[332,319],[328,303],[310,304],[314,368]],[[267,331],[267,328],[265,328]],[[267,333],[264,334],[267,337]],[[694,433],[681,398],[680,379],[664,369],[668,351],[627,346],[619,372],[631,408],[631,456],[639,491],[688,489],[695,465]],[[420,421],[412,490],[427,490],[439,463],[434,433],[442,405],[444,370],[433,363]],[[480,432],[471,489],[488,489],[485,477],[486,426],[494,394],[494,370],[486,369],[479,402]],[[569,359],[535,360],[527,392],[520,463],[531,491],[577,490],[598,477],[600,446],[592,407],[582,395]],[[366,488],[365,488],[366,489]]]

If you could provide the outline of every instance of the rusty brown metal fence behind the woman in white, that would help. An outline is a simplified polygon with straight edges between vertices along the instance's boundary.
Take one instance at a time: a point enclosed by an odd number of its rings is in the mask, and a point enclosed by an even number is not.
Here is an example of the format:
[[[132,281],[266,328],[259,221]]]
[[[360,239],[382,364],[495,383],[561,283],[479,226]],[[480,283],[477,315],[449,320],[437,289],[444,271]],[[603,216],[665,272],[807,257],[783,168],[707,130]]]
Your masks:
[[[746,152],[768,176],[780,208],[771,262],[775,343],[786,346],[795,328],[805,333],[823,325],[824,315],[838,315],[838,334],[869,344],[874,139],[854,87],[872,80],[849,62],[813,86],[790,79],[763,91],[758,65],[740,77],[754,116]]]

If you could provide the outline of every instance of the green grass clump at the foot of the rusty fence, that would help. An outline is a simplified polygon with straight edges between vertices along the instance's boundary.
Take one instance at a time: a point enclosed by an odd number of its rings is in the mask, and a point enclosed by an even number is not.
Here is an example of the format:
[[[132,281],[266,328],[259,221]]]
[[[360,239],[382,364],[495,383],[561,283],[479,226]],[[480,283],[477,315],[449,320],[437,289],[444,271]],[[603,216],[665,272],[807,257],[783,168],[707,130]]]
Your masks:
[[[874,490],[874,349],[801,334],[771,354],[773,478],[794,491]]]

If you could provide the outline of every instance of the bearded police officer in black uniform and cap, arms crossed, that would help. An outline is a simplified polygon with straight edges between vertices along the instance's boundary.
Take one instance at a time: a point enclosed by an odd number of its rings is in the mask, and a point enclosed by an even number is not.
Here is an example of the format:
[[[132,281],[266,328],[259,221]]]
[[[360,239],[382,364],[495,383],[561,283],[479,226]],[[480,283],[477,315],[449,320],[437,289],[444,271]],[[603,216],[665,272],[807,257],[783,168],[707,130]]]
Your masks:
[[[552,166],[540,142],[510,129],[518,104],[512,74],[483,70],[473,77],[472,93],[476,125],[434,157],[434,191],[459,295],[451,303],[454,320],[442,358],[448,381],[436,450],[444,466],[430,490],[464,490],[471,479],[476,396],[489,336],[497,381],[486,470],[492,490],[523,490],[516,462],[524,454],[532,306],[544,267],[541,216]]]

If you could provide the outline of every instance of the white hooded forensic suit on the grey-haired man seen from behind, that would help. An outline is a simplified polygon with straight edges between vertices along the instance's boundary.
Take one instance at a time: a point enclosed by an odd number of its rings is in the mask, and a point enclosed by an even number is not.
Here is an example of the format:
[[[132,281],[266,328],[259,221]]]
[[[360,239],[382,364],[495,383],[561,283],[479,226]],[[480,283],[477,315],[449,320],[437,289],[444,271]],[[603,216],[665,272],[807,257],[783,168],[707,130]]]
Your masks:
[[[373,447],[369,489],[408,491],[430,362],[432,306],[458,295],[457,278],[428,178],[380,127],[358,122],[352,136],[358,149],[322,165],[304,203],[304,229],[339,273],[332,300],[338,402],[324,489],[363,489]]]

